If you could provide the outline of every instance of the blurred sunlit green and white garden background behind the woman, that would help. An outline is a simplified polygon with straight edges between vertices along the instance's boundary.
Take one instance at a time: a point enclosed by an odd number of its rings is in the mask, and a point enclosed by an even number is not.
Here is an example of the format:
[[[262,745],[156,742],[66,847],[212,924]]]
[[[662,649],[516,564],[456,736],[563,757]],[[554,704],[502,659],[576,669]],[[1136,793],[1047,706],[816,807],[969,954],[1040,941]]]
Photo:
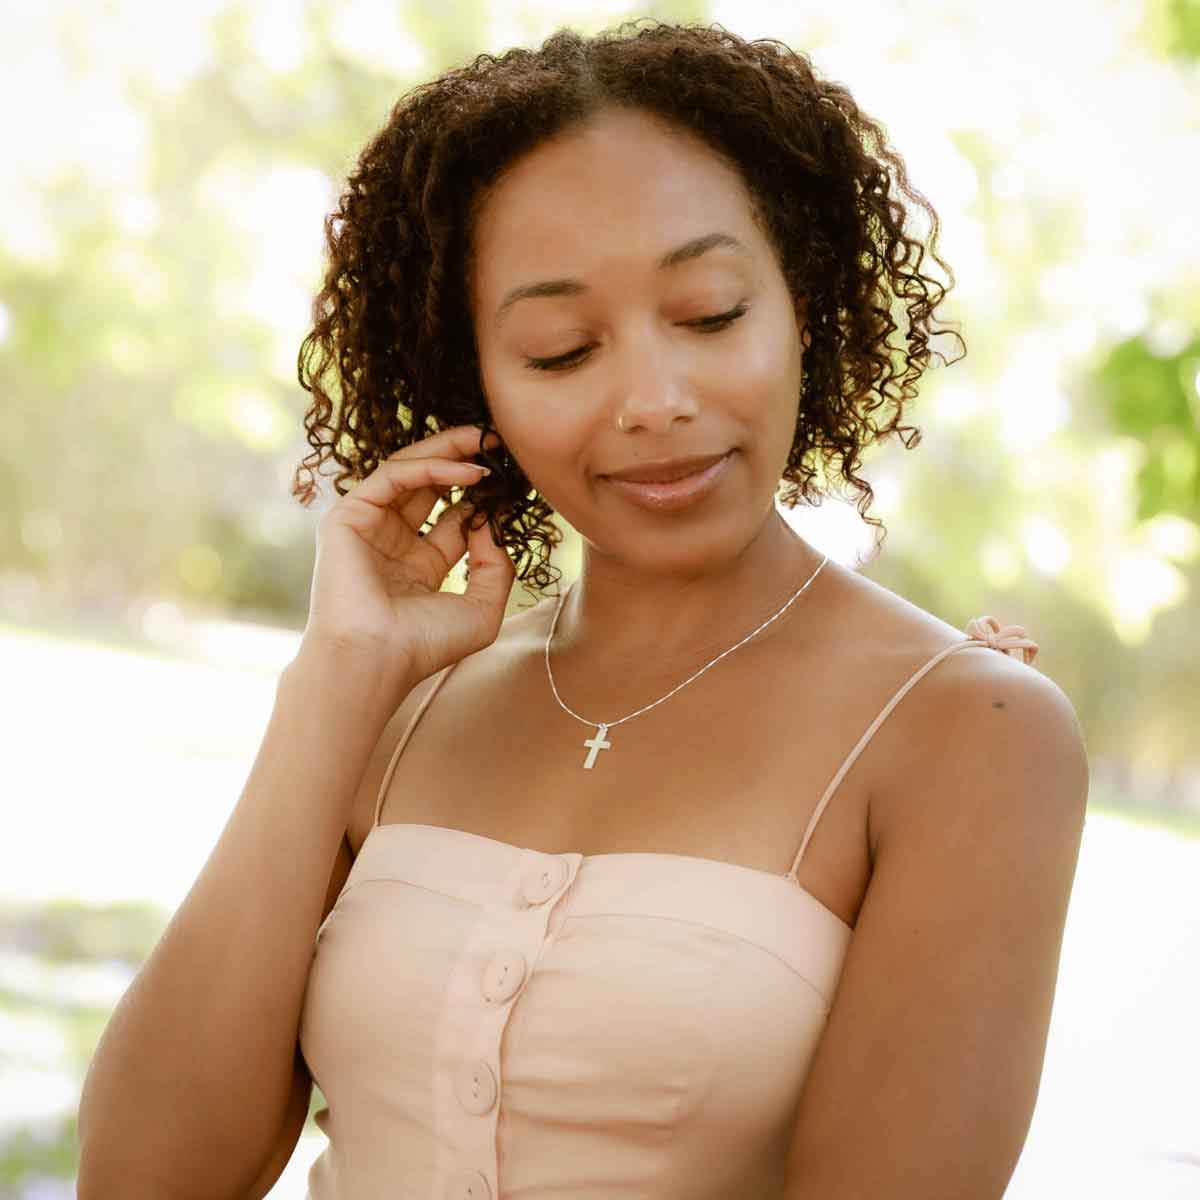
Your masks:
[[[841,499],[786,515],[960,628],[1024,624],[1085,727],[1090,814],[1009,1200],[1200,1196],[1200,2],[0,14],[0,1200],[74,1194],[96,1040],[298,646],[319,508],[288,493],[295,356],[341,179],[414,84],[642,16],[809,53],[941,217],[941,312],[968,354],[926,374],[919,450],[868,456],[882,552]],[[272,1198],[304,1196],[323,1145],[310,1120]]]

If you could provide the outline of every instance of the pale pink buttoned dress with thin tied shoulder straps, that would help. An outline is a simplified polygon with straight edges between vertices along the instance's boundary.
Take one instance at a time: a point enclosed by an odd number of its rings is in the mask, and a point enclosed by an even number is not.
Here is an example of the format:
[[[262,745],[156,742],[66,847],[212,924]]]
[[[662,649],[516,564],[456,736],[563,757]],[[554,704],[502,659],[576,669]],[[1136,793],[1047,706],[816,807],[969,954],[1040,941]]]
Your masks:
[[[995,618],[926,661],[834,775],[782,875],[684,854],[542,853],[376,822],[317,931],[300,1044],[328,1105],[308,1200],[782,1195],[853,930],[796,880],[887,715],[954,650],[1032,662]]]

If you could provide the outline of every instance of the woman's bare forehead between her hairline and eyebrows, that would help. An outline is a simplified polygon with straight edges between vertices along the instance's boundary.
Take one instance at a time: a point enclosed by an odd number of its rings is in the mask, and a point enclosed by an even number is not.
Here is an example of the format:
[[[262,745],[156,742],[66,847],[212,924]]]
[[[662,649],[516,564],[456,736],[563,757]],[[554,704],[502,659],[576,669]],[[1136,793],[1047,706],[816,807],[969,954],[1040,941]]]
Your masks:
[[[666,250],[714,229],[764,248],[737,169],[686,131],[606,112],[532,150],[482,200],[473,290],[486,304],[544,271],[653,270]]]

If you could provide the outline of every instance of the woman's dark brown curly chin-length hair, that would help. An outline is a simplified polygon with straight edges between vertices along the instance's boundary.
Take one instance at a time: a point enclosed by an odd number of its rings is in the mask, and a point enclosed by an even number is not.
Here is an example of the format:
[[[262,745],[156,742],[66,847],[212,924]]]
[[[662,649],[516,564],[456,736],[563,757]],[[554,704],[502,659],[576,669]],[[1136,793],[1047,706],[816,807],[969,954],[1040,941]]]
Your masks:
[[[882,125],[845,86],[817,78],[805,54],[715,24],[638,29],[641,20],[592,37],[559,29],[539,49],[480,54],[402,96],[362,150],[325,218],[328,266],[298,360],[312,396],[313,451],[292,486],[302,504],[313,497],[312,468],[328,457],[344,468],[334,482],[344,494],[346,479],[440,430],[494,432],[468,290],[480,203],[539,143],[624,107],[698,134],[740,172],[793,299],[806,298],[780,502],[818,504],[817,482],[840,474],[860,517],[882,528],[866,515],[874,492],[857,474],[863,450],[892,433],[906,449],[919,443],[919,430],[900,424],[905,404],[931,354],[947,364],[929,346],[942,331],[931,328],[934,310],[954,286],[935,250],[937,214],[908,184]],[[905,230],[895,191],[929,214],[928,252],[946,287],[922,274],[926,246]],[[904,350],[889,342],[898,305],[907,314]],[[547,588],[563,536],[553,509],[506,446],[478,458],[492,474],[473,485],[464,523],[490,522],[516,577]]]

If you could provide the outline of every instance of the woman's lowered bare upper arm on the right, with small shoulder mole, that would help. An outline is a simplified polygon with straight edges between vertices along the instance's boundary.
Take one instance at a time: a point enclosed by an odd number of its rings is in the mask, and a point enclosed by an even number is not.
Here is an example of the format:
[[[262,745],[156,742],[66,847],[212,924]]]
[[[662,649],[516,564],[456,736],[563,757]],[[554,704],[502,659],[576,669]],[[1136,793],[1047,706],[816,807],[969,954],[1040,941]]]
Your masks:
[[[1028,1134],[1087,758],[1050,679],[995,652],[955,658],[926,680],[916,782],[877,809],[872,794],[875,870],[787,1200],[1001,1200]]]

